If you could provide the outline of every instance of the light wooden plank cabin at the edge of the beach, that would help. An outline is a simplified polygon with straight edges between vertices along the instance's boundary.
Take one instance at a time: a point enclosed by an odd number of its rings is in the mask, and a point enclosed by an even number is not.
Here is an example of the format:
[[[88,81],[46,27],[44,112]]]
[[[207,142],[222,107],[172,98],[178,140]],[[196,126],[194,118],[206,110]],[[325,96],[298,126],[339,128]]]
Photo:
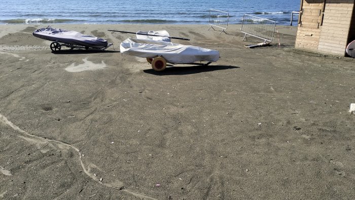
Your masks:
[[[355,0],[301,0],[296,49],[346,56],[355,40]]]

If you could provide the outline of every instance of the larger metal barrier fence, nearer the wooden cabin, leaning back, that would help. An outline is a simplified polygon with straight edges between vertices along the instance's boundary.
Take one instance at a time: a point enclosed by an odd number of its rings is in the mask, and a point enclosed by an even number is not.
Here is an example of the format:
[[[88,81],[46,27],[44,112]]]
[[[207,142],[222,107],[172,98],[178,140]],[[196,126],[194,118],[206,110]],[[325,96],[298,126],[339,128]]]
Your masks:
[[[250,35],[264,40],[264,43],[266,41],[271,42],[274,38],[275,27],[275,21],[244,14],[241,23],[241,32],[245,36],[242,41],[246,39],[246,35]]]

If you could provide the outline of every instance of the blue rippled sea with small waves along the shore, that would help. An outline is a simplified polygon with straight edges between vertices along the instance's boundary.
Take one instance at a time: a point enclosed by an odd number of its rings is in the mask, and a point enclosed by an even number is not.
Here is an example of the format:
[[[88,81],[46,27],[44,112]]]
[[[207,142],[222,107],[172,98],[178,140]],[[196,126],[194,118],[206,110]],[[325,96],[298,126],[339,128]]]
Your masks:
[[[0,24],[207,24],[210,9],[228,12],[230,24],[249,14],[290,25],[300,1],[1,0]]]

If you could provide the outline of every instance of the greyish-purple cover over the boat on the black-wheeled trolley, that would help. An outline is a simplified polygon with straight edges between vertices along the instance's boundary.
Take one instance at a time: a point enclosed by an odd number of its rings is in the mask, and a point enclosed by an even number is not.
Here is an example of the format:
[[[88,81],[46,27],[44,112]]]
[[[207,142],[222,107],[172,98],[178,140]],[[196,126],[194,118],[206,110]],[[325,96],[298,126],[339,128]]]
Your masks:
[[[41,28],[35,30],[33,36],[49,41],[56,41],[71,45],[79,45],[92,48],[104,48],[109,45],[107,40],[81,34],[77,31],[64,30],[60,28]]]

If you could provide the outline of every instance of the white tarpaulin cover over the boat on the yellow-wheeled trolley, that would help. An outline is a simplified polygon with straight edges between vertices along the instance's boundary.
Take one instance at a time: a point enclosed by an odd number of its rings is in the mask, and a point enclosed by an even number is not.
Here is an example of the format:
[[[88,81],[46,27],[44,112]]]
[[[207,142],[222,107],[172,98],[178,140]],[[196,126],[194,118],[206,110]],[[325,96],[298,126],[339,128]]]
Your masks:
[[[121,53],[137,57],[155,58],[162,56],[170,63],[191,63],[196,61],[216,62],[219,51],[190,45],[148,39],[128,38],[120,45]]]

